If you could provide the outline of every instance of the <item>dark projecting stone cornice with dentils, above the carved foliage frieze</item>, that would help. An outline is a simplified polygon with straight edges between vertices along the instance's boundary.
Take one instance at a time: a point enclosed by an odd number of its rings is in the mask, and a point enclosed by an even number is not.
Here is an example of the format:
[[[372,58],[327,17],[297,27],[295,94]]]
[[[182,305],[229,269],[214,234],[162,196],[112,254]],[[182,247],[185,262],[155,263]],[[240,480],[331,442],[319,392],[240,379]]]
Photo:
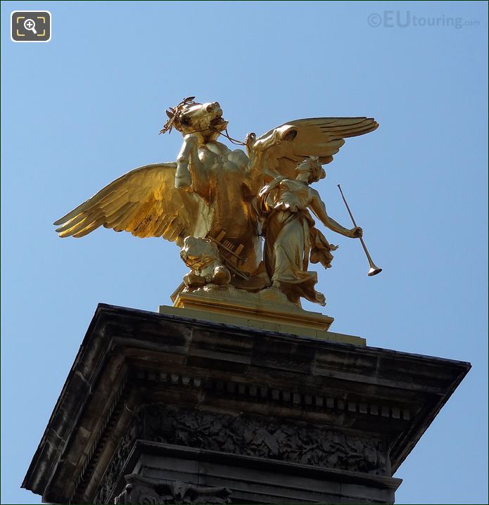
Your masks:
[[[180,402],[189,392],[192,402],[234,402],[250,413],[266,404],[268,415],[375,430],[390,442],[394,472],[469,369],[450,359],[101,304],[23,487],[59,502],[75,496],[88,471],[100,480],[118,445],[103,435],[106,426],[110,437],[122,436],[145,391]]]

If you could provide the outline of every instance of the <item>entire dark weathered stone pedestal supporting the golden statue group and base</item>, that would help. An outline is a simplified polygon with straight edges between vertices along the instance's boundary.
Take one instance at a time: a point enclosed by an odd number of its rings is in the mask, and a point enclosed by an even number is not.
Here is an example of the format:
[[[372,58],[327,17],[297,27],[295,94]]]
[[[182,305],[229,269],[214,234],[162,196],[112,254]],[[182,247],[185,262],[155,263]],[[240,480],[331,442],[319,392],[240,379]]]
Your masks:
[[[99,305],[23,487],[57,504],[393,503],[470,368],[178,314]]]

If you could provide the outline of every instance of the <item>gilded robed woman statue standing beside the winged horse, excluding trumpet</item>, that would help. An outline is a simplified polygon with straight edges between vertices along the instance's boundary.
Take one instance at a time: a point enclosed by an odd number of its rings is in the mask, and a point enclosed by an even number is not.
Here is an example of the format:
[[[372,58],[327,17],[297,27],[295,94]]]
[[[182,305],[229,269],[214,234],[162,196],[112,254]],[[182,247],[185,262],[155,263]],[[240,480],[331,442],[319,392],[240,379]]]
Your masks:
[[[315,290],[317,273],[307,271],[309,260],[331,267],[336,245],[331,245],[315,228],[309,210],[329,229],[350,238],[362,236],[362,229],[346,229],[326,214],[319,193],[309,185],[326,177],[317,156],[300,162],[295,179],[276,177],[260,193],[256,208],[264,220],[265,267],[272,288],[284,293],[291,302],[300,297],[326,305],[322,293]]]

